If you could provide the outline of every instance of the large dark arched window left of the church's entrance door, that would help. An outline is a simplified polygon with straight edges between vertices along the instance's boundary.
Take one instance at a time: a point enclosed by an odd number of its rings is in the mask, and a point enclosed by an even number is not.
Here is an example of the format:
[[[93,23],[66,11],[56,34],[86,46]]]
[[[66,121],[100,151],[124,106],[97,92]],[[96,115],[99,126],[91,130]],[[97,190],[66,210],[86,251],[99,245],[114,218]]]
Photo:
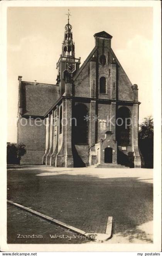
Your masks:
[[[74,143],[88,143],[88,109],[84,104],[78,104],[73,112],[73,139]]]

